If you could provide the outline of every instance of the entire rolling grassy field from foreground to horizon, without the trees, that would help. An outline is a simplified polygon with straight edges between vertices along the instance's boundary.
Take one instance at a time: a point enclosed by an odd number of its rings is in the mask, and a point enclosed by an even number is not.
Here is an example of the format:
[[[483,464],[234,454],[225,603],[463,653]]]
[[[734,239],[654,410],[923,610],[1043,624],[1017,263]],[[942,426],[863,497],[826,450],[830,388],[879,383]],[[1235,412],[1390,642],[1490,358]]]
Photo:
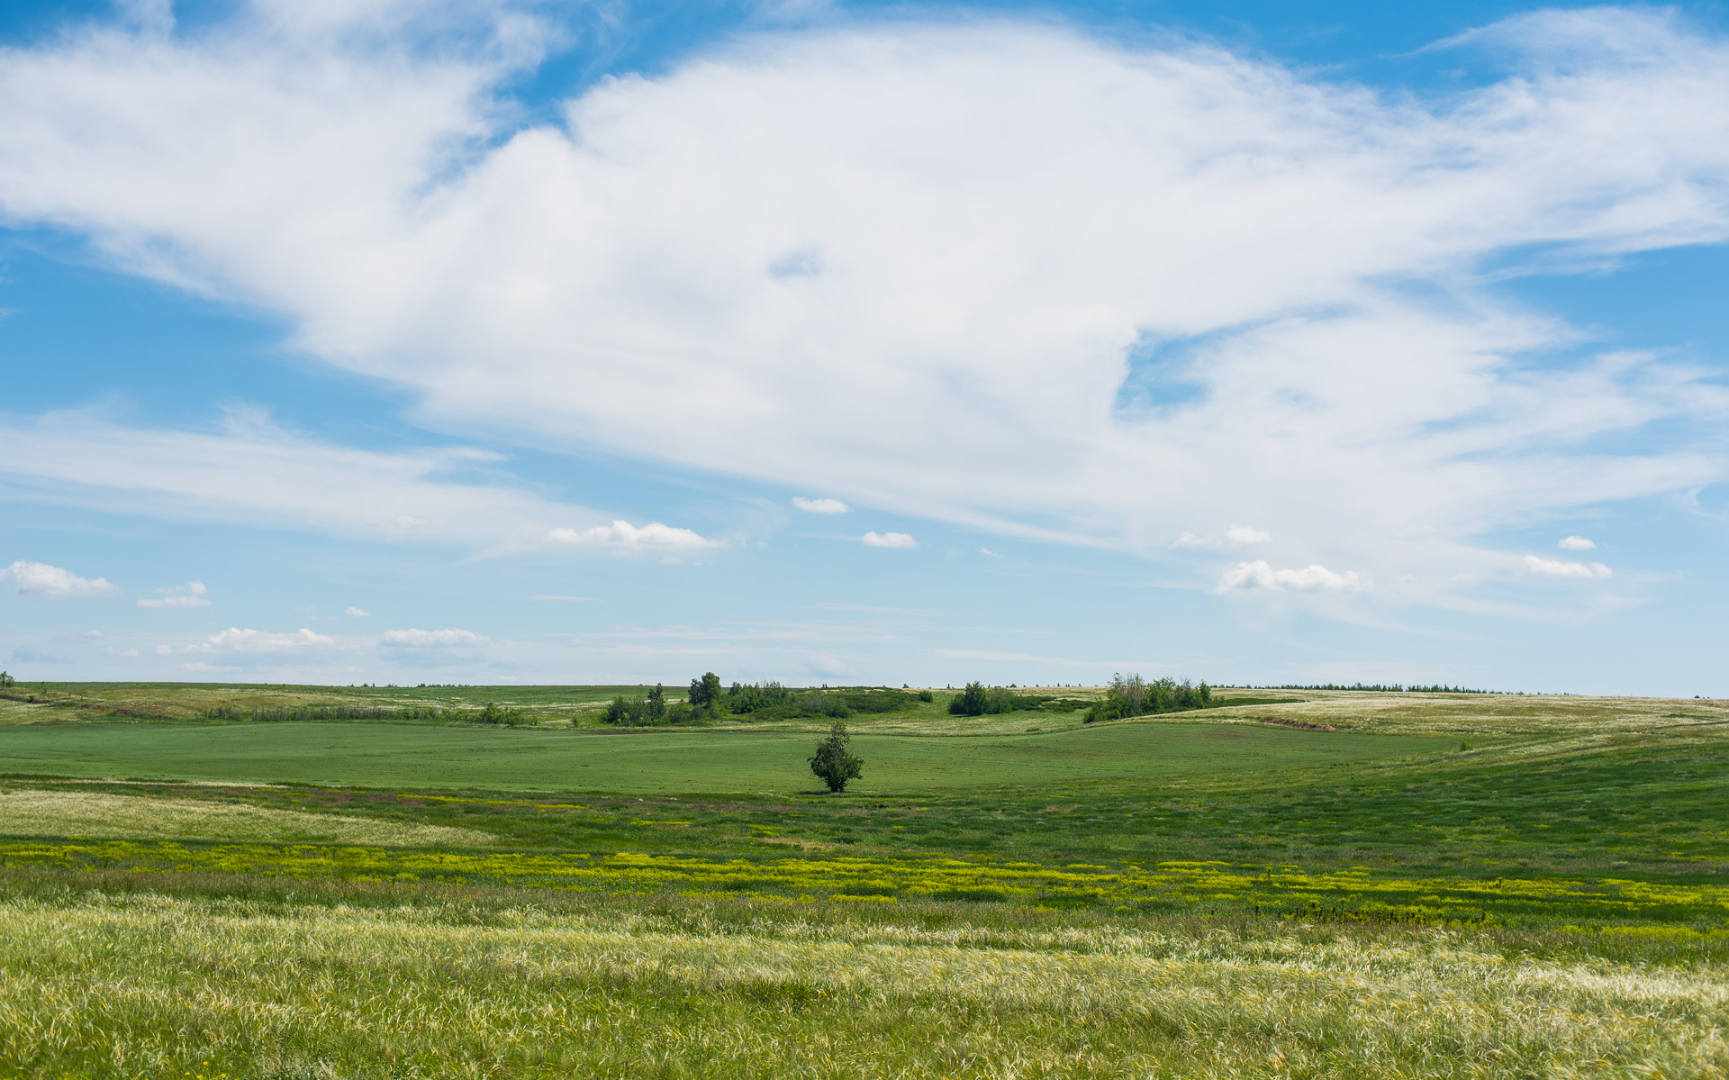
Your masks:
[[[432,691],[527,720],[207,722]],[[1722,703],[939,694],[832,796],[612,692],[14,687],[0,1075],[1729,1070]]]

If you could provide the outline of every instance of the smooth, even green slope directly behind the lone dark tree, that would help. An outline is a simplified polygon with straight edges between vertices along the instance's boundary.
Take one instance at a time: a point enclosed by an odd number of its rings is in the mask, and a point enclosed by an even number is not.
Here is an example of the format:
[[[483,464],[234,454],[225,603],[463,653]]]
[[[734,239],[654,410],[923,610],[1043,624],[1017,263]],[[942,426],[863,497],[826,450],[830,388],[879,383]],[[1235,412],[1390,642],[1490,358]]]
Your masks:
[[[1020,736],[871,736],[861,796],[1276,770],[1407,756],[1432,737],[1273,725],[1119,723]],[[811,737],[787,730],[541,732],[382,723],[149,723],[0,729],[0,772],[496,791],[759,791],[816,784]]]

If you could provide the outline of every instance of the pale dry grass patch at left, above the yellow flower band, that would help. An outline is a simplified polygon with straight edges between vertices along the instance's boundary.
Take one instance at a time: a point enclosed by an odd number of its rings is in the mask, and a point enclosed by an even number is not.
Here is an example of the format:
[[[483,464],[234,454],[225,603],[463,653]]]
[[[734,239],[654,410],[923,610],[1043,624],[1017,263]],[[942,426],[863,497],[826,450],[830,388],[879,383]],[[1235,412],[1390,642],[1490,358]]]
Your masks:
[[[451,826],[415,826],[180,798],[35,789],[0,791],[0,834],[412,848],[472,848],[496,839],[479,829]]]

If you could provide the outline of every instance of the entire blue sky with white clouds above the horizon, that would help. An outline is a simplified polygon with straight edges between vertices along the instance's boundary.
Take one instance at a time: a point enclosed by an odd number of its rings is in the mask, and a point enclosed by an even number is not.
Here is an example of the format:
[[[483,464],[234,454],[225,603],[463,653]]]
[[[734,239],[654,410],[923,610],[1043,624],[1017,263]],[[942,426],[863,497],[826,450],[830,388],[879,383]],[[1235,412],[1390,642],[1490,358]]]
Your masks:
[[[0,10],[0,665],[1729,696],[1717,3]]]

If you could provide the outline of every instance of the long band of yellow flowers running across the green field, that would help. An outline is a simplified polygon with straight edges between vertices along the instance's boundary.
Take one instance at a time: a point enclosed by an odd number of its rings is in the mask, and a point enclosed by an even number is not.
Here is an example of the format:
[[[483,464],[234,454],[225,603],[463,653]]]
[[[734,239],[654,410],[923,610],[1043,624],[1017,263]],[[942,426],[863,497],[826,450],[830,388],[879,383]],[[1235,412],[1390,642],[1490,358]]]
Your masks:
[[[337,845],[173,841],[0,843],[0,865],[230,872],[348,881],[444,881],[609,893],[809,898],[858,903],[1006,900],[1117,910],[1247,910],[1340,919],[1504,922],[1568,917],[1611,922],[1729,921],[1729,886],[1629,879],[1394,878],[1368,867],[1304,871],[1224,862],[1096,864],[947,857],[788,857],[437,852]]]

